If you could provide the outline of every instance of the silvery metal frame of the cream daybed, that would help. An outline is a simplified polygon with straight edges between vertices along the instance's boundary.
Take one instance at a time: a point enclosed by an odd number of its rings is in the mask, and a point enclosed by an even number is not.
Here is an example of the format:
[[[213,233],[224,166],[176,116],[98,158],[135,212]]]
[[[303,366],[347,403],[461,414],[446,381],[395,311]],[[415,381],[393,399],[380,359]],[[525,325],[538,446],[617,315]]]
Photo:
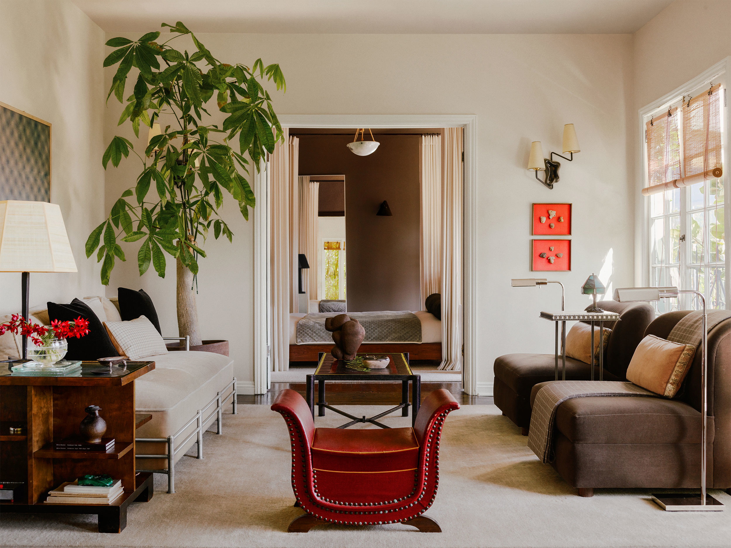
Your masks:
[[[163,337],[164,339],[170,339],[170,340],[185,340],[186,341],[186,350],[190,349],[190,339],[189,337]],[[153,442],[153,443],[160,443],[160,444],[167,444],[167,454],[135,454],[136,459],[167,459],[167,468],[162,468],[160,470],[137,470],[137,472],[148,472],[148,473],[164,473],[167,474],[167,492],[174,493],[175,492],[175,455],[178,454],[178,452],[183,449],[183,447],[191,440],[191,438],[194,435],[197,435],[197,456],[196,458],[202,459],[203,458],[203,432],[208,428],[208,426],[213,424],[213,421],[216,421],[216,434],[222,434],[223,433],[223,406],[225,403],[227,403],[228,400],[232,399],[232,414],[237,413],[237,402],[236,402],[236,377],[233,378],[232,381],[227,382],[226,386],[223,389],[223,392],[226,391],[227,387],[230,385],[231,392],[227,396],[221,396],[221,391],[216,392],[216,397],[213,398],[210,402],[208,402],[208,405],[206,405],[204,408],[199,409],[197,414],[190,419],[188,422],[186,422],[185,425],[181,427],[180,430],[178,430],[173,435],[167,436],[167,438],[135,438],[135,444],[139,444],[142,442]],[[211,414],[206,416],[205,419],[203,416],[208,411],[208,409],[213,406],[213,404],[216,404],[216,408],[211,411]],[[215,416],[215,419],[213,418]],[[187,427],[193,424],[193,422],[196,423],[195,430],[192,431],[183,441],[178,443],[177,438],[183,434],[183,432],[186,430]]]

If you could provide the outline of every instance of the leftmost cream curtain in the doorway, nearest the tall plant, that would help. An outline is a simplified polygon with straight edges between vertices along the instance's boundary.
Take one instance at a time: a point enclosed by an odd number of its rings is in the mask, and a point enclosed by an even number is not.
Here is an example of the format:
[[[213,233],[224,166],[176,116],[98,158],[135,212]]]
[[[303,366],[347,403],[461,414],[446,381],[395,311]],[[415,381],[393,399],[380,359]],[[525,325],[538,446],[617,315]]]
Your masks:
[[[289,131],[269,158],[272,368],[289,369]]]

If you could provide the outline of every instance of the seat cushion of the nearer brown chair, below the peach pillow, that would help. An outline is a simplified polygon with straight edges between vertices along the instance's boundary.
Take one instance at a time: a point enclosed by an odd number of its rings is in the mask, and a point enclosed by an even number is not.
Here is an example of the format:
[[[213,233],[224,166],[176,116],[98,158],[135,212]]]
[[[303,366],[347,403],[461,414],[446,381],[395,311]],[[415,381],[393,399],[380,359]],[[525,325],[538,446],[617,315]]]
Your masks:
[[[700,443],[700,413],[661,397],[575,397],[558,406],[556,428],[574,444]]]

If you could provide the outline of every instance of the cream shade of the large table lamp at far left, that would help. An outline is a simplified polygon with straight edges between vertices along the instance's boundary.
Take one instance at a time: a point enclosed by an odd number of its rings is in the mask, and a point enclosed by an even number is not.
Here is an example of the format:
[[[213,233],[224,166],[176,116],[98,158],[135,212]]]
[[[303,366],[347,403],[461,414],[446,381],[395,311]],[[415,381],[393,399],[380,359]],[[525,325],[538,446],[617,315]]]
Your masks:
[[[58,205],[0,202],[0,272],[76,272]]]

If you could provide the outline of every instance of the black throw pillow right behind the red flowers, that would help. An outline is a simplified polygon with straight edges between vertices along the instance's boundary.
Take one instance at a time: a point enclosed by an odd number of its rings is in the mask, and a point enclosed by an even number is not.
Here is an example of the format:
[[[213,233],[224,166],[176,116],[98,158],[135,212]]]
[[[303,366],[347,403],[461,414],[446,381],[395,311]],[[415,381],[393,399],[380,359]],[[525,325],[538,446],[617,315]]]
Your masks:
[[[68,305],[57,302],[48,302],[48,319],[58,321],[75,320],[79,316],[89,322],[89,332],[81,338],[69,337],[69,351],[65,359],[85,359],[94,361],[99,358],[116,356],[119,354],[114,348],[112,340],[102,321],[96,317],[94,311],[86,302],[74,299]]]

